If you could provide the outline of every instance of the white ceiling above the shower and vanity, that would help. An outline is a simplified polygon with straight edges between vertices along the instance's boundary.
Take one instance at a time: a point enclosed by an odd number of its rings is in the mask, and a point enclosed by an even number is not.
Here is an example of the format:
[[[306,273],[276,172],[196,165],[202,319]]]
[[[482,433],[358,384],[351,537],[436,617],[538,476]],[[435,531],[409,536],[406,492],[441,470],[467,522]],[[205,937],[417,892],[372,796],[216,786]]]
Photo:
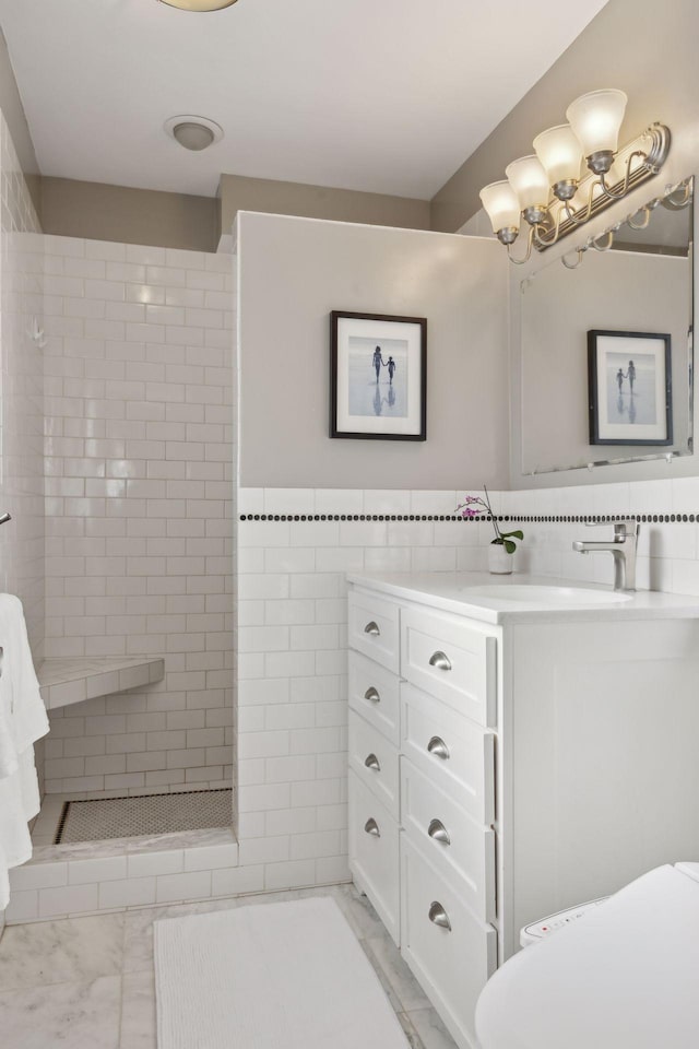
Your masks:
[[[0,0],[0,25],[45,175],[214,196],[226,172],[425,199],[604,3]],[[163,131],[177,114],[225,138],[188,153]]]

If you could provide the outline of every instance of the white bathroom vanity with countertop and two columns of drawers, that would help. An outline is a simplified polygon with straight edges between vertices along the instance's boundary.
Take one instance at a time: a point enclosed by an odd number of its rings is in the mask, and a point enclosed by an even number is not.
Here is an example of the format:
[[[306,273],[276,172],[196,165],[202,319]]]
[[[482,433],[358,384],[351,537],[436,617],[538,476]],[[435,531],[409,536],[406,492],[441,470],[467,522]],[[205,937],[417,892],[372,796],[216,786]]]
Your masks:
[[[351,870],[471,1049],[522,926],[699,858],[699,598],[348,578]]]

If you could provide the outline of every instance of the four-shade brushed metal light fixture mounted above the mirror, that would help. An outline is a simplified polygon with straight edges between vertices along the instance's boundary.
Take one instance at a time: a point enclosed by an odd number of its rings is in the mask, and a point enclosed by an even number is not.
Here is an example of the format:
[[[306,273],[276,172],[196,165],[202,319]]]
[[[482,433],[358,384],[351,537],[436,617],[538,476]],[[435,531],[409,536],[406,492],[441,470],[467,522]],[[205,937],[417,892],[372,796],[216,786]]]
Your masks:
[[[507,179],[481,190],[493,232],[507,247],[511,262],[526,262],[532,247],[545,251],[657,175],[670,151],[670,130],[653,123],[619,150],[626,102],[625,93],[615,87],[576,98],[566,111],[568,123],[537,134],[531,156],[512,161],[505,172]],[[522,217],[529,233],[526,254],[518,259],[511,245]],[[604,250],[611,240],[590,244]]]

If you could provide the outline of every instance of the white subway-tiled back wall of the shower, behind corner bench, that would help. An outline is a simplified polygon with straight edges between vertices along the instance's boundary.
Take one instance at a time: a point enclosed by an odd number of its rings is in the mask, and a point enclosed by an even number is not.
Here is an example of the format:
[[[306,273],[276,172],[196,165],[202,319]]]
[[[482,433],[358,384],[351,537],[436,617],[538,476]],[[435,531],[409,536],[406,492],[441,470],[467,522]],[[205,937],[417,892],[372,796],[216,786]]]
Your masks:
[[[51,712],[46,789],[229,786],[230,256],[44,239],[46,655],[166,660]]]

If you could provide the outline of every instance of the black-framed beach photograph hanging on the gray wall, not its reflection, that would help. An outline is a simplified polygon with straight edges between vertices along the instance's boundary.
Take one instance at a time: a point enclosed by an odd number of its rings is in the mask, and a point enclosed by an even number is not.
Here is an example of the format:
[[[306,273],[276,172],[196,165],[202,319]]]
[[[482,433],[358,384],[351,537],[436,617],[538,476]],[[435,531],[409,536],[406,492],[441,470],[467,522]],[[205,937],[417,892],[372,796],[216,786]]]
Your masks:
[[[330,315],[330,436],[425,440],[427,320]]]

